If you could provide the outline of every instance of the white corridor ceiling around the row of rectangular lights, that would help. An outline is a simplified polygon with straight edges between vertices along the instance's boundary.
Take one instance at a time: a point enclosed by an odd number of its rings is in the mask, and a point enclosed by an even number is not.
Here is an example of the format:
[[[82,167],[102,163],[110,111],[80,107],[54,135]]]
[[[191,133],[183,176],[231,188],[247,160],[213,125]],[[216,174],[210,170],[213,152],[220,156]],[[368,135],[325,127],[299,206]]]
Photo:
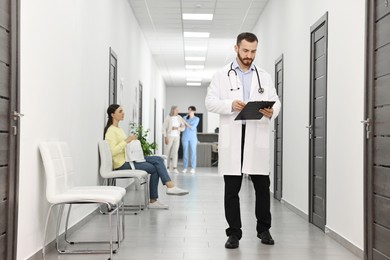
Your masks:
[[[128,0],[167,87],[183,87],[197,74],[207,87],[214,72],[235,57],[239,33],[251,31],[268,0]],[[213,14],[212,21],[183,20],[182,13]],[[210,32],[210,38],[184,38],[183,32]],[[207,46],[185,51],[185,46]],[[206,58],[185,61],[185,56]],[[186,65],[204,65],[186,70]]]

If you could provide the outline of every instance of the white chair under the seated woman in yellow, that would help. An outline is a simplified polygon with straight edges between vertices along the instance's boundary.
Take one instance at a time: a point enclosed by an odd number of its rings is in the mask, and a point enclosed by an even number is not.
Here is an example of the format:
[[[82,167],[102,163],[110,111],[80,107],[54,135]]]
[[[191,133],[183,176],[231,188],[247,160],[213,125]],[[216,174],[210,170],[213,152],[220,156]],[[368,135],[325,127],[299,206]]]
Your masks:
[[[101,140],[98,143],[100,154],[100,176],[104,179],[105,184],[115,185],[116,179],[131,178],[136,181],[137,188],[141,185],[144,186],[144,206],[147,208],[149,205],[149,174],[143,170],[113,170],[112,155],[110,146],[105,140]],[[139,194],[139,193],[138,193]],[[139,201],[139,209],[142,208],[141,199]],[[125,205],[126,208],[131,208],[131,205]]]

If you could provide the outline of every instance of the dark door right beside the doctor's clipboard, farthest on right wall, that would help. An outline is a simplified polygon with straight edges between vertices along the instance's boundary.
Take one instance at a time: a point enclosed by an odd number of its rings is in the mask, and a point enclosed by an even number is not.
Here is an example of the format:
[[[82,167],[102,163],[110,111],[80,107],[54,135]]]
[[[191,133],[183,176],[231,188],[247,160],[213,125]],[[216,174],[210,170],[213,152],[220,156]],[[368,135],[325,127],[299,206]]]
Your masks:
[[[283,190],[283,54],[275,61],[275,88],[282,109],[274,124],[274,198],[281,200]]]

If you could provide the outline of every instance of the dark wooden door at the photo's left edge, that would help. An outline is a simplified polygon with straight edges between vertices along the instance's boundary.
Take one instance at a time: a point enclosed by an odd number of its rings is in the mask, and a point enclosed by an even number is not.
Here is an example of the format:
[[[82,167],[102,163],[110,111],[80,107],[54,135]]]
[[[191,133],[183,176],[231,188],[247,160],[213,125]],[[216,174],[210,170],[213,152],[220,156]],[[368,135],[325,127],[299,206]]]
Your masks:
[[[0,259],[16,258],[17,8],[0,0]]]

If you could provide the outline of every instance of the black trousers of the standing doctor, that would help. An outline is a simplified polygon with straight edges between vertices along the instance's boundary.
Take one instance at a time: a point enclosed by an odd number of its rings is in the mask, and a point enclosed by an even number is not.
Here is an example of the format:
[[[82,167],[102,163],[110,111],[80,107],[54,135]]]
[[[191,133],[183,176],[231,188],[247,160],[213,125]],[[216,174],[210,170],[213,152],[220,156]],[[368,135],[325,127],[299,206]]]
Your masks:
[[[245,125],[242,125],[241,139],[241,167],[243,162],[245,145]],[[259,158],[261,159],[261,158]],[[257,233],[262,233],[271,228],[270,212],[270,180],[268,175],[250,175],[255,189],[255,214],[257,219]],[[238,193],[241,189],[242,174],[240,176],[224,176],[225,181],[225,217],[229,224],[226,235],[235,235],[238,239],[242,237],[242,224],[240,214],[240,197]]]

